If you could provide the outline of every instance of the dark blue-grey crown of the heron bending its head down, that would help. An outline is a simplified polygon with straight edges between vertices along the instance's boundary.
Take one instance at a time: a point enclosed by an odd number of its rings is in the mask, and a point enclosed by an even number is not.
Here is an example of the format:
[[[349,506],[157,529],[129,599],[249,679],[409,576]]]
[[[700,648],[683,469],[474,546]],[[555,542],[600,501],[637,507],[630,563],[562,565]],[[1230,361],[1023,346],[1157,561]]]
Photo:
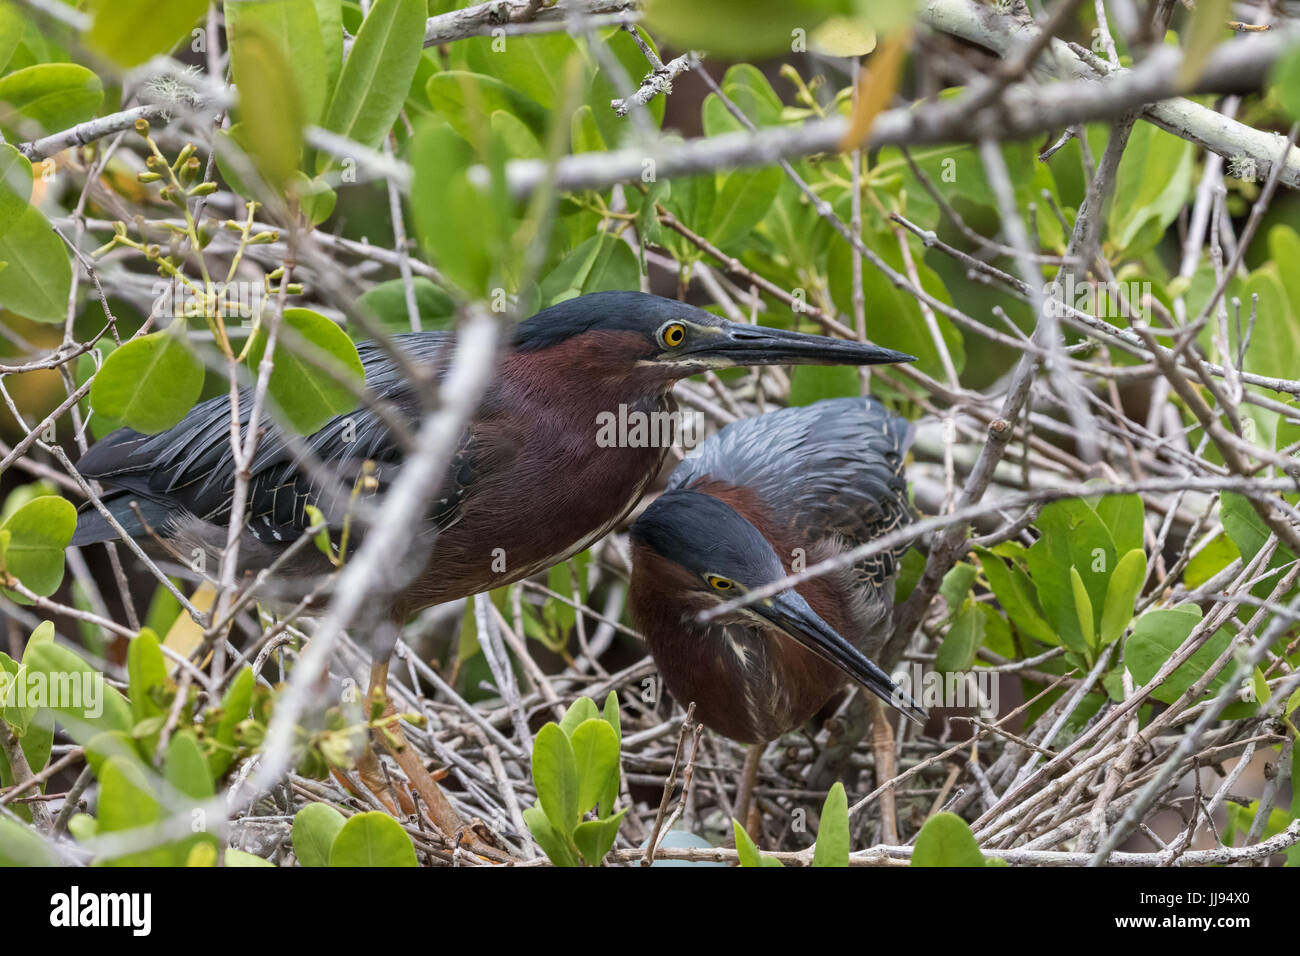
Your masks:
[[[785,574],[762,532],[727,502],[681,488],[666,492],[630,529],[645,545],[697,575],[722,575],[757,588]]]

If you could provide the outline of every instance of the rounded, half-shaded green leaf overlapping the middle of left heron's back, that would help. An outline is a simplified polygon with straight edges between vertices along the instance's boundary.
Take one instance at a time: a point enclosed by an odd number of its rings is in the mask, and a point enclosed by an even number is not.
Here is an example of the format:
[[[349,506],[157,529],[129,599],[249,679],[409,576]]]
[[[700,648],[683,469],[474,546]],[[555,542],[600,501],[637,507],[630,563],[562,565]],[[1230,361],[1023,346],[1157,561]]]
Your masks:
[[[266,332],[259,329],[248,349],[248,367],[256,369],[266,351]],[[335,415],[356,407],[354,389],[365,382],[356,346],[338,325],[309,308],[286,308],[280,324],[274,368],[268,392],[289,424],[302,434],[320,429]],[[321,371],[341,372],[348,389]]]

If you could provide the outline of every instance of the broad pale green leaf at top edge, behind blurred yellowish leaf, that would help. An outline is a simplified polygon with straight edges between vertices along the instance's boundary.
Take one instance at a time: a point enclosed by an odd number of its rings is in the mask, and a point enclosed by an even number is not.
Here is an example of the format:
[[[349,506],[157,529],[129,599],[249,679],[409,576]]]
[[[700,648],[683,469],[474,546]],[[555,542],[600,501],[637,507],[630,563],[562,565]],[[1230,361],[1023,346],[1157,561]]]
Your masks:
[[[264,86],[270,77],[256,64],[257,59],[265,57],[265,51],[257,47],[269,43],[277,53],[274,59],[291,74],[296,100],[302,104],[300,121],[320,122],[329,90],[325,43],[315,0],[240,0],[226,4],[225,10],[226,36],[230,38],[230,72],[235,86],[250,90],[254,99],[263,100],[269,109],[283,111],[289,83]],[[342,36],[339,33],[339,51]],[[250,62],[250,56],[254,62]],[[268,96],[268,90],[274,90],[276,95]],[[246,101],[244,109],[248,105]]]

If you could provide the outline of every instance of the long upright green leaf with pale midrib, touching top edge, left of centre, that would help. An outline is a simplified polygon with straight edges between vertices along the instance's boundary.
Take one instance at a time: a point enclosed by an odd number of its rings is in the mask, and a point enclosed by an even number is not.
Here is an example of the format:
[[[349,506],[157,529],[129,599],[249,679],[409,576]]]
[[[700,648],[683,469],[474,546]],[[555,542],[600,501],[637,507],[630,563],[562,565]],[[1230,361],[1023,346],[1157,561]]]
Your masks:
[[[343,62],[325,129],[377,148],[398,118],[424,49],[425,0],[374,0]],[[330,159],[321,156],[316,172]]]

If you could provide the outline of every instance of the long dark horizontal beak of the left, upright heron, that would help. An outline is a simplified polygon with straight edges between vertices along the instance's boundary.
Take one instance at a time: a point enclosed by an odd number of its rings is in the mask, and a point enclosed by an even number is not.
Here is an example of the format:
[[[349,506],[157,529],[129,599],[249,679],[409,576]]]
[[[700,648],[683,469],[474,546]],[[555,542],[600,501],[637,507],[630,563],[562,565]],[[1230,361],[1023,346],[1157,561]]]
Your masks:
[[[810,336],[762,325],[724,323],[716,336],[702,337],[680,360],[705,365],[888,365],[915,362],[915,355],[846,338]]]

